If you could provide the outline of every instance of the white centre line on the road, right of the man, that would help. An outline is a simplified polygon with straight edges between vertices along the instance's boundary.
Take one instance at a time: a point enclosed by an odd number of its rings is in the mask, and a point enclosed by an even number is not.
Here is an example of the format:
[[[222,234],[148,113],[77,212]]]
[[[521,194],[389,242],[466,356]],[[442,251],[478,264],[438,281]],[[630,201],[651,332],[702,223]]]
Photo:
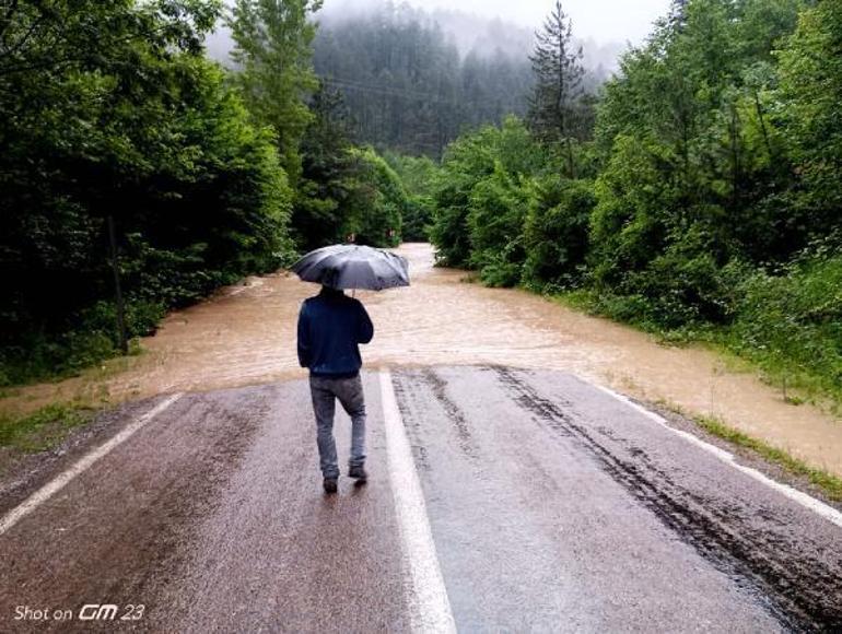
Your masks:
[[[451,601],[435,554],[435,543],[426,516],[421,481],[412,460],[409,438],[398,410],[391,374],[381,372],[383,418],[398,528],[404,544],[411,588],[409,591],[410,625],[413,632],[456,632]]]

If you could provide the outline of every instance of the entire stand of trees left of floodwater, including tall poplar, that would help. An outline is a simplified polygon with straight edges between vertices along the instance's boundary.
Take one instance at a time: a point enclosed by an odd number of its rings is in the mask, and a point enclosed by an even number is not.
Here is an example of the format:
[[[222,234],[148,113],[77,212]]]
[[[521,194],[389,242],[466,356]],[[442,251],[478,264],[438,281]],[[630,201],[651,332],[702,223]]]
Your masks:
[[[118,353],[115,270],[131,338],[302,249],[348,234],[395,244],[406,193],[352,145],[341,99],[313,72],[315,8],[3,5],[0,385]],[[235,70],[204,55],[220,20]]]

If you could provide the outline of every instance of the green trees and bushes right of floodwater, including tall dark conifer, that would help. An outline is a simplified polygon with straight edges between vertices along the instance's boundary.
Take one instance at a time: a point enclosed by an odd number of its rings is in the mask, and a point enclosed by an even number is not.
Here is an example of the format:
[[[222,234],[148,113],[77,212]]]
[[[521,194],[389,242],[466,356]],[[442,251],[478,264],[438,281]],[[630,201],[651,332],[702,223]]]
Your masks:
[[[429,180],[441,262],[842,396],[842,2],[677,0],[593,121],[559,3],[542,36],[526,119]]]

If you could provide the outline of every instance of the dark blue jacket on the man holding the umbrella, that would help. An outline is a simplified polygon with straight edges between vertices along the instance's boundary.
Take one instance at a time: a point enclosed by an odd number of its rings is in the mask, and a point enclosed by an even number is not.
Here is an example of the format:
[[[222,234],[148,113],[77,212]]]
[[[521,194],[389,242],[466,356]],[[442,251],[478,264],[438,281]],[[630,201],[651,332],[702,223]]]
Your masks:
[[[358,344],[372,337],[374,326],[363,305],[341,291],[323,287],[301,306],[299,363],[312,376],[356,376],[363,363]]]

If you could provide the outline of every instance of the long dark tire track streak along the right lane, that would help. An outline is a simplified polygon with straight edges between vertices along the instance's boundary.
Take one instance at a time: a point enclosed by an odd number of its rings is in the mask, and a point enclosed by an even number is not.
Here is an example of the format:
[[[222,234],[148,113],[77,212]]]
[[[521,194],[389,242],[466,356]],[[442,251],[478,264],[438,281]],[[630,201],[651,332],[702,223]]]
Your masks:
[[[814,556],[803,540],[764,530],[753,509],[705,496],[676,482],[640,448],[573,413],[572,403],[541,397],[518,373],[494,367],[501,384],[534,419],[556,434],[573,437],[606,472],[683,541],[737,580],[747,580],[771,599],[783,625],[794,630],[842,629],[842,561]],[[611,445],[615,445],[613,447]],[[618,447],[620,445],[620,447]],[[620,451],[617,449],[620,448]],[[624,454],[624,455],[623,455]],[[820,550],[819,550],[820,552]]]

